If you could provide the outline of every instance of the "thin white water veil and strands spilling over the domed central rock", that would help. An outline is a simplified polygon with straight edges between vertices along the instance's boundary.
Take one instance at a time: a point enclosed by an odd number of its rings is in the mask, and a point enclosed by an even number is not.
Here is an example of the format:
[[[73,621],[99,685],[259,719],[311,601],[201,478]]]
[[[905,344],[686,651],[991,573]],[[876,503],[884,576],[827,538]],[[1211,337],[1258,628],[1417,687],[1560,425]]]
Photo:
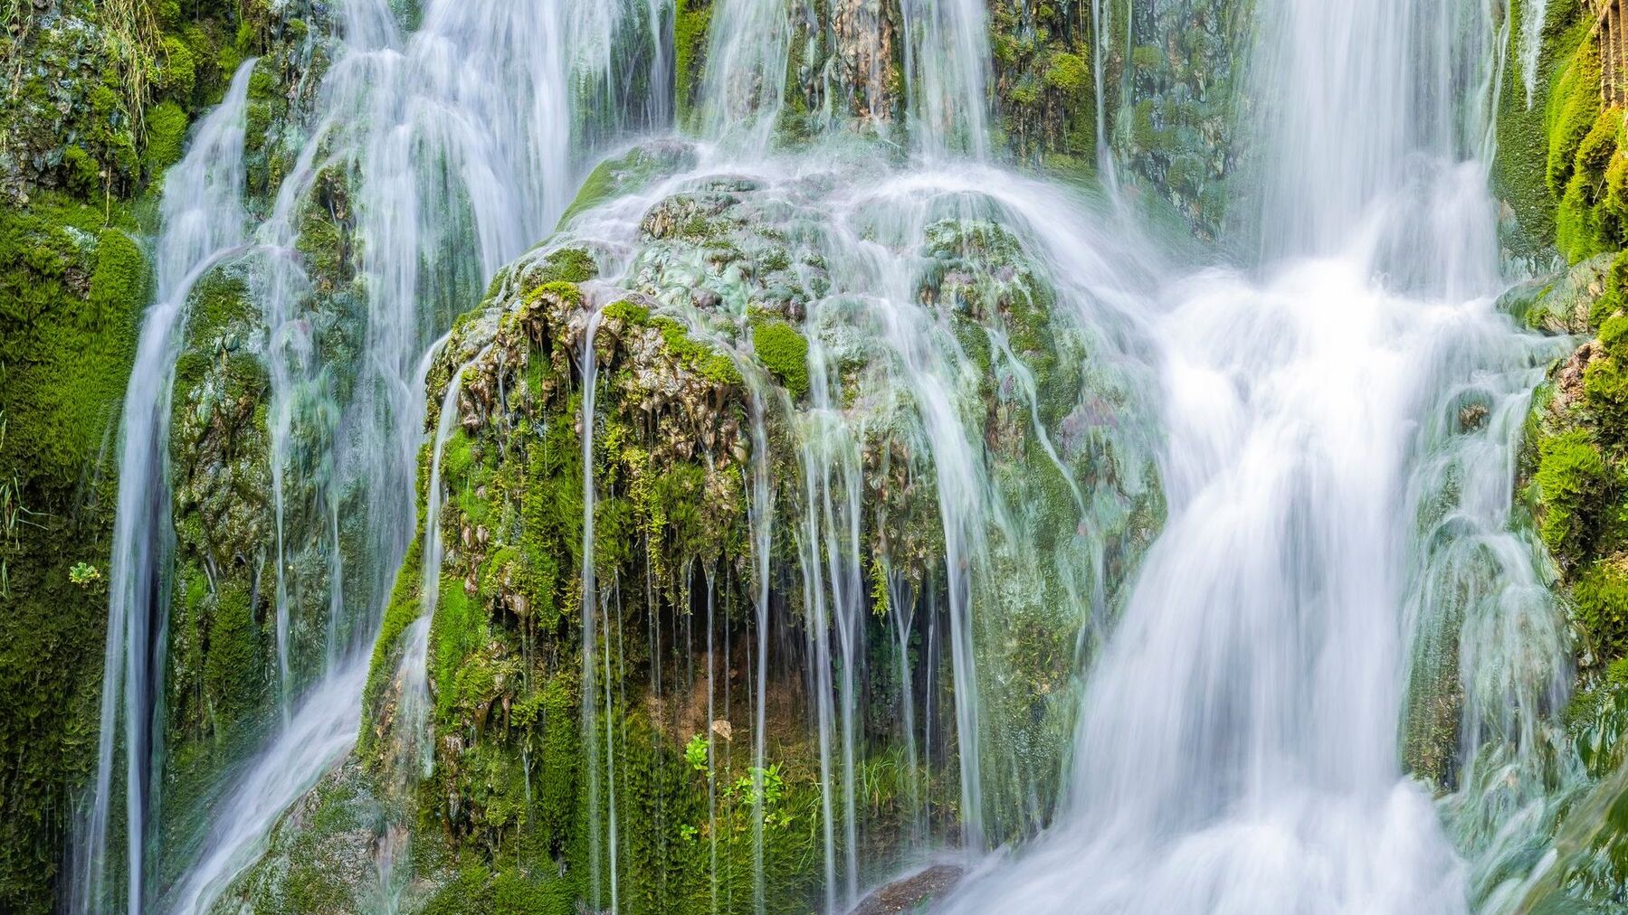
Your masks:
[[[840,158],[840,140],[837,156]],[[695,172],[676,176],[637,198],[625,198],[607,206],[593,219],[576,223],[578,232],[593,241],[596,249],[628,250],[638,234],[641,215],[651,203],[674,190],[705,185],[713,166],[702,164]],[[729,167],[739,167],[731,161]],[[926,575],[930,587],[895,590],[900,600],[923,600],[925,616],[943,614],[947,632],[947,652],[954,671],[952,728],[957,744],[956,759],[962,761],[961,796],[957,809],[961,822],[974,843],[983,842],[988,829],[1003,837],[1021,834],[1035,817],[1044,816],[1037,798],[1050,772],[1021,772],[1021,761],[1008,741],[985,744],[985,735],[995,725],[985,718],[982,683],[995,681],[988,700],[1011,702],[1011,681],[1004,676],[1004,658],[980,645],[1006,644],[1017,626],[1032,626],[1040,619],[1055,622],[1073,632],[1101,609],[1096,601],[1105,590],[1099,580],[1110,531],[1125,523],[1135,499],[1146,497],[1140,455],[1148,453],[1146,429],[1140,426],[1136,397],[1131,379],[1141,374],[1138,359],[1127,349],[1138,346],[1140,336],[1131,309],[1138,299],[1136,289],[1146,286],[1148,263],[1140,258],[1135,245],[1125,242],[1122,228],[1099,226],[1091,219],[1058,218],[1055,215],[1055,189],[1006,176],[987,167],[944,169],[925,174],[894,174],[853,163],[842,163],[847,180],[837,182],[840,190],[822,182],[806,180],[822,174],[827,161],[791,161],[781,166],[759,164],[749,179],[734,179],[747,187],[764,187],[765,210],[760,216],[772,231],[807,239],[819,252],[834,289],[819,302],[809,304],[804,320],[809,338],[809,393],[807,406],[794,406],[783,388],[757,387],[754,379],[762,369],[751,361],[739,362],[741,374],[754,388],[751,411],[754,440],[752,483],[752,562],[757,592],[754,598],[759,619],[757,689],[754,697],[754,884],[762,892],[762,770],[764,770],[764,722],[765,722],[765,670],[770,653],[767,605],[768,554],[772,541],[785,536],[796,546],[801,580],[801,618],[806,639],[807,668],[804,671],[809,696],[809,725],[816,744],[816,762],[821,785],[821,856],[824,865],[824,907],[840,912],[851,905],[858,887],[874,874],[860,861],[860,843],[864,822],[853,801],[858,785],[858,756],[861,743],[856,718],[861,709],[856,683],[868,663],[860,650],[860,634],[864,627],[871,595],[866,587],[869,569],[860,556],[860,527],[868,514],[868,494],[861,483],[861,442],[874,439],[876,432],[897,427],[908,442],[908,473],[920,479],[930,492],[926,509],[933,525],[944,538],[943,553],[931,557],[926,567],[915,574]],[[1000,187],[1000,192],[990,190]],[[993,239],[962,239],[952,226],[964,219],[991,232]],[[982,219],[990,219],[983,223]],[[1009,226],[998,229],[996,224]],[[1013,232],[1011,241],[1001,234]],[[1040,436],[1037,445],[1042,460],[1058,473],[1058,496],[1040,496],[1029,489],[1029,475],[996,478],[983,457],[983,400],[978,390],[985,372],[967,351],[964,341],[946,323],[951,301],[923,302],[918,293],[921,283],[934,276],[931,257],[920,254],[926,244],[944,245],[946,250],[982,250],[988,244],[1003,249],[1006,244],[1021,247],[1034,258],[1034,270],[1045,271],[1050,283],[1044,288],[1014,288],[1013,296],[1055,296],[1060,315],[1052,332],[1066,353],[1092,353],[1102,358],[1094,371],[1092,405],[1081,408],[1079,432],[1070,444],[1068,462],[1083,460],[1083,453],[1115,455],[1115,486],[1094,492],[1094,502],[1084,499],[1076,483],[1060,473],[1065,457],[1060,445]],[[1076,252],[1110,252],[1102,255]],[[661,258],[663,255],[653,255]],[[1027,263],[1027,262],[1024,262]],[[643,262],[625,265],[627,275],[641,275]],[[985,280],[957,280],[957,294],[978,299],[977,283],[1011,283],[1000,262],[987,267]],[[715,340],[710,335],[713,320],[692,306],[694,289],[674,288],[658,291],[658,299],[685,319],[694,335]],[[749,302],[737,289],[718,289],[726,304],[721,314],[747,314]],[[1021,411],[1034,410],[1039,400],[1035,379],[1016,349],[1006,343],[1001,319],[988,315],[991,333],[1000,341],[993,346],[1001,372],[1003,390],[1022,405]],[[988,340],[983,333],[980,338]],[[832,343],[827,345],[825,341]],[[853,340],[868,343],[855,349]],[[837,345],[837,341],[848,341]],[[1032,338],[1029,338],[1032,345]],[[830,348],[827,348],[830,346]],[[1076,349],[1078,348],[1078,349]],[[853,403],[845,398],[843,367],[855,359],[868,366],[858,382],[873,392]],[[851,371],[851,369],[847,369]],[[593,384],[591,366],[583,366],[584,410],[588,410],[586,385]],[[1052,397],[1057,397],[1055,393]],[[1070,390],[1068,397],[1081,397]],[[1099,398],[1099,400],[1097,400]],[[1053,408],[1057,405],[1053,403]],[[1068,405],[1065,405],[1066,410]],[[796,501],[772,504],[768,492],[767,418],[773,413],[790,418],[790,431],[796,449]],[[1039,424],[1031,418],[1027,424]],[[581,427],[591,429],[588,414]],[[583,452],[584,460],[593,452]],[[1050,455],[1050,457],[1044,457]],[[584,491],[591,496],[593,488]],[[1035,504],[1045,504],[1047,512],[1031,512]],[[584,523],[589,515],[584,510]],[[1058,530],[1061,528],[1061,530]],[[778,535],[775,531],[780,531]],[[1045,531],[1055,536],[1057,553],[1035,554],[1032,544]],[[584,551],[591,546],[584,535]],[[1013,595],[1026,585],[1011,585],[1003,574],[1021,570],[1045,579],[1050,585],[1035,587],[1031,593]],[[584,564],[583,575],[589,575]],[[931,583],[941,582],[943,583]],[[1031,579],[1021,579],[1029,582]],[[908,595],[908,596],[907,596]],[[1058,603],[1050,603],[1057,598]],[[1001,609],[1009,609],[1008,618]],[[594,603],[586,600],[584,614],[594,613]],[[899,608],[900,613],[905,608]],[[1021,613],[1021,616],[1019,616]],[[584,637],[594,627],[584,626]],[[982,631],[982,632],[980,632]],[[1073,642],[1068,644],[1073,650]],[[588,652],[599,652],[588,648]],[[980,665],[975,655],[988,655],[988,665]],[[584,704],[589,702],[584,691]],[[1065,709],[1066,705],[1060,705]],[[597,715],[584,707],[584,717]],[[1068,712],[1058,712],[1066,718]],[[931,715],[928,715],[930,718]],[[589,728],[597,733],[597,726]],[[912,726],[913,731],[913,726]],[[1000,736],[1000,735],[996,735]],[[913,736],[912,736],[913,739]],[[1016,741],[1011,741],[1013,744]],[[597,751],[596,751],[597,752]],[[983,765],[985,761],[990,765]],[[589,793],[604,791],[609,774],[589,775],[599,778]],[[987,796],[987,783],[998,785],[998,801]],[[599,809],[591,801],[589,809]],[[993,826],[987,821],[993,821]],[[594,827],[604,834],[602,827]],[[601,852],[602,855],[602,852]],[[601,863],[602,866],[602,863]],[[601,886],[594,879],[594,886]],[[609,900],[601,900],[601,905]]]

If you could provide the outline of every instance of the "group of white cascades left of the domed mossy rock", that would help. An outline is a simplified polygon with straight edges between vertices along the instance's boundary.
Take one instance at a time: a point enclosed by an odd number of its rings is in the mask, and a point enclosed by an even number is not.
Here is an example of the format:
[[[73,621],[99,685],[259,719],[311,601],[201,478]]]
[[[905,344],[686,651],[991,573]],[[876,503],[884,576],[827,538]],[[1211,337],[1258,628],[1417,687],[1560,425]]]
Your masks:
[[[252,247],[274,388],[280,725],[243,775],[262,788],[260,796],[213,811],[215,852],[181,878],[174,894],[143,881],[155,853],[151,774],[164,749],[156,684],[169,587],[168,392],[192,284],[251,250],[243,133],[252,60],[166,176],[158,304],[143,325],[122,432],[101,757],[75,850],[77,910],[111,907],[119,858],[107,839],[120,782],[129,843],[124,907],[147,912],[169,899],[177,912],[190,912],[207,907],[252,861],[247,852],[264,842],[282,809],[355,738],[368,640],[412,530],[425,348],[565,208],[573,169],[591,153],[586,132],[576,130],[576,81],[604,81],[620,31],[643,29],[653,41],[656,18],[671,20],[661,0],[628,0],[635,15],[624,5],[586,7],[596,15],[578,15],[575,3],[436,0],[425,5],[422,28],[405,34],[387,0],[344,5],[339,54],[317,93],[309,137]],[[646,88],[663,80],[664,70],[651,70]],[[663,111],[650,107],[646,117]],[[597,135],[609,137],[602,128]],[[355,375],[344,379],[314,338],[306,314],[313,286],[298,255],[300,215],[324,174],[355,182],[366,278],[361,353]],[[363,567],[342,562],[348,549],[342,541],[352,536],[361,541],[355,553]],[[296,556],[319,561],[298,564]],[[321,574],[300,577],[296,567]],[[319,744],[311,743],[314,735],[324,735]],[[122,778],[114,770],[120,751]],[[244,804],[256,813],[246,814]]]

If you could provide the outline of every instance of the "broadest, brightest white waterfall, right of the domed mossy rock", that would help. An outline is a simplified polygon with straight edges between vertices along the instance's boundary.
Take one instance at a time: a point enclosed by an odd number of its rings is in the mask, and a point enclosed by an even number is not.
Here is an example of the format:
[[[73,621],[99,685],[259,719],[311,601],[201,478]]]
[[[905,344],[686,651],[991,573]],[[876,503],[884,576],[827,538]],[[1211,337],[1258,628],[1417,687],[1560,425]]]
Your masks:
[[[1532,551],[1503,533],[1511,423],[1555,346],[1493,309],[1467,112],[1496,62],[1460,42],[1495,23],[1411,0],[1257,16],[1262,262],[1161,293],[1169,522],[1091,673],[1058,824],[952,912],[1467,907],[1465,865],[1397,759],[1408,632],[1457,600],[1429,587],[1451,570],[1410,575],[1408,556],[1423,536],[1496,546],[1509,590],[1470,605],[1467,639],[1486,635],[1465,684],[1519,650],[1511,632],[1558,629]],[[1503,419],[1462,429],[1465,392]],[[1420,455],[1452,465],[1457,523],[1413,530]]]

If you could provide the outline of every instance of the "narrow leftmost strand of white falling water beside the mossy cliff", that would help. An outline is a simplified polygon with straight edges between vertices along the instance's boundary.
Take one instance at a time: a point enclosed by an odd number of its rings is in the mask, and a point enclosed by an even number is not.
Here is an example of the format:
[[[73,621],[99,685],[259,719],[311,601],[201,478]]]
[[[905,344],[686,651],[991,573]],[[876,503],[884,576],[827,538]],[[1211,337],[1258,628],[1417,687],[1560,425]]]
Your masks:
[[[116,756],[124,756],[125,908],[151,899],[147,842],[158,808],[153,774],[163,762],[163,678],[168,619],[169,403],[194,283],[244,241],[243,132],[254,60],[231,80],[225,101],[199,125],[186,158],[166,177],[155,252],[156,294],[142,322],[119,426],[119,509],[109,574],[107,648],[103,661],[96,783],[77,850],[75,912],[112,908],[107,832],[114,816]],[[122,700],[122,707],[120,707]],[[124,743],[117,746],[119,725]]]

